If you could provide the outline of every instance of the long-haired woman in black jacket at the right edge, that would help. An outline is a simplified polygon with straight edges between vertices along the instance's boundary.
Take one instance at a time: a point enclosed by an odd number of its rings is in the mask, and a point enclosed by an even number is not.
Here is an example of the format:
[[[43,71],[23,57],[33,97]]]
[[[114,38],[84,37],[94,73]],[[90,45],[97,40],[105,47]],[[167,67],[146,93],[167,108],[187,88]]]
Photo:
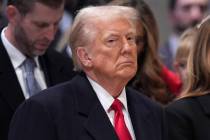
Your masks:
[[[189,61],[187,85],[166,107],[169,140],[210,140],[210,16],[198,26]]]

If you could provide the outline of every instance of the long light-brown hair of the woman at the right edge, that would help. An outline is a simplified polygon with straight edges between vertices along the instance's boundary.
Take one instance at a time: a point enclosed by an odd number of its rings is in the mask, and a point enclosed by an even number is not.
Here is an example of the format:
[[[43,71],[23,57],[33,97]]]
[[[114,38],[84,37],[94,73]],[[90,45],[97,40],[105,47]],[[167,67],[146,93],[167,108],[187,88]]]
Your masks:
[[[204,95],[210,91],[210,16],[197,30],[187,63],[187,85],[181,97]]]

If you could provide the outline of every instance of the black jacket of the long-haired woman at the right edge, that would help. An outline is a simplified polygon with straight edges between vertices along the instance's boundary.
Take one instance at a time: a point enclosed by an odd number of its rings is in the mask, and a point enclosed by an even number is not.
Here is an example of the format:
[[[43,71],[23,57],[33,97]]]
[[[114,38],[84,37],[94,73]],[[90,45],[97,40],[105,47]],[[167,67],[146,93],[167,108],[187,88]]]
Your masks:
[[[169,140],[210,140],[210,95],[180,99],[166,108]]]

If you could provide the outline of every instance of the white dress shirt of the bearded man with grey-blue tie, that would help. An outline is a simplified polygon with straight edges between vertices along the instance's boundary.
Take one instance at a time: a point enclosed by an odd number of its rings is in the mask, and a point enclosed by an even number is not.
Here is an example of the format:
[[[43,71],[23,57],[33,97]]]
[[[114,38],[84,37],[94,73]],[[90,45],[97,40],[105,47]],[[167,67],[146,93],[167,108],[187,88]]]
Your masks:
[[[21,67],[22,63],[25,61],[26,56],[22,54],[12,43],[9,42],[9,40],[5,36],[5,30],[7,28],[4,28],[1,32],[1,39],[2,43],[10,57],[10,60],[12,62],[13,68],[15,70],[15,73],[17,75],[18,81],[20,83],[20,86],[22,88],[23,94],[25,99],[29,98],[29,93],[27,93],[26,85],[23,78],[23,69]],[[34,70],[34,76],[37,82],[39,83],[41,89],[46,89],[46,82],[44,79],[44,72],[41,70],[41,67],[38,62],[38,57],[35,57],[35,62],[37,64],[37,67]]]

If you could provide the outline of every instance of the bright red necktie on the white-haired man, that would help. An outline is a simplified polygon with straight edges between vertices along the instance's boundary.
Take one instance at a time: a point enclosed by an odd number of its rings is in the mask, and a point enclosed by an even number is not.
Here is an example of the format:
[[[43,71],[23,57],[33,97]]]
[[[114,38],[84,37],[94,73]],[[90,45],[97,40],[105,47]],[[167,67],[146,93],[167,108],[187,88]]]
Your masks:
[[[119,140],[132,140],[128,128],[125,124],[124,115],[122,112],[122,103],[118,99],[115,99],[111,106],[111,109],[115,111],[114,127],[119,137]]]

